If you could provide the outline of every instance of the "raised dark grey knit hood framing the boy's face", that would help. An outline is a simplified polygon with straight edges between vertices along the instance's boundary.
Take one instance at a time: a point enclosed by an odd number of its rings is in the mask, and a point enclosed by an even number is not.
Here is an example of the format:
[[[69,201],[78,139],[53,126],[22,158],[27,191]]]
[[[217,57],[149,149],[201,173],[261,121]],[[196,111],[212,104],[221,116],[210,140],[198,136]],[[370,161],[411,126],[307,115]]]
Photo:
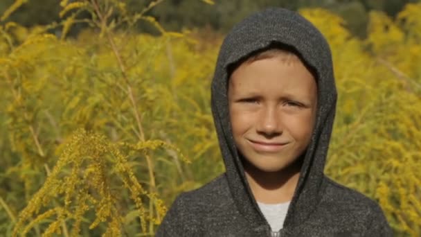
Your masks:
[[[267,222],[258,211],[235,147],[227,92],[230,65],[272,44],[283,44],[298,52],[307,67],[313,69],[318,86],[316,123],[284,222],[284,228],[291,229],[305,222],[321,200],[323,168],[337,100],[328,42],[314,25],[290,10],[269,8],[247,17],[233,27],[222,43],[212,81],[211,106],[226,178],[235,205],[242,216],[249,220],[251,227],[266,228]]]

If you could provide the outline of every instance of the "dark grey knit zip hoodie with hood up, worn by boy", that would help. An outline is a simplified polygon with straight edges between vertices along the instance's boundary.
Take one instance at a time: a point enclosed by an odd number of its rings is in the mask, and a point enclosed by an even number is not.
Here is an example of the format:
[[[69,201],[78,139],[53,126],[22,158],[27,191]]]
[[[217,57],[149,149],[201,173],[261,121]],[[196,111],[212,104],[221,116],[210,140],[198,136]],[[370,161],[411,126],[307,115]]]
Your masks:
[[[277,236],[392,236],[379,205],[323,174],[337,91],[328,42],[296,12],[269,8],[247,17],[226,36],[212,82],[212,112],[226,172],[181,193],[156,236],[271,236],[253,198],[235,147],[227,100],[229,67],[274,43],[292,47],[313,69],[317,115],[298,186]]]

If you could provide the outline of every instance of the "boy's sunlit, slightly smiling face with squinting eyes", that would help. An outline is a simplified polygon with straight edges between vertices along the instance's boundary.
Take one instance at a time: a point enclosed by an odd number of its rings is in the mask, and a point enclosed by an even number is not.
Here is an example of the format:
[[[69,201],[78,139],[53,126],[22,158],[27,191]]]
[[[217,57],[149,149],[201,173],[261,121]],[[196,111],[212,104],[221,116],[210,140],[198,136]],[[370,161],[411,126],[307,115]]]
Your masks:
[[[235,144],[249,164],[283,170],[310,143],[317,86],[300,60],[280,56],[245,62],[229,81],[229,113]]]

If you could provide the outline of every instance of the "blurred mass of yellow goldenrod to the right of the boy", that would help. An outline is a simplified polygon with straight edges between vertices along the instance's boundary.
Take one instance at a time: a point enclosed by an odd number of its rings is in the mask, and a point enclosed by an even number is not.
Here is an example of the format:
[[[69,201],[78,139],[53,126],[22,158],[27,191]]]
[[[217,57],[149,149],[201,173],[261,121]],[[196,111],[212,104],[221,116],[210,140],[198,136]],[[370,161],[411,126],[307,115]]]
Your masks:
[[[421,3],[371,12],[366,40],[323,9],[303,10],[332,45],[339,89],[326,173],[382,206],[396,236],[421,234]]]

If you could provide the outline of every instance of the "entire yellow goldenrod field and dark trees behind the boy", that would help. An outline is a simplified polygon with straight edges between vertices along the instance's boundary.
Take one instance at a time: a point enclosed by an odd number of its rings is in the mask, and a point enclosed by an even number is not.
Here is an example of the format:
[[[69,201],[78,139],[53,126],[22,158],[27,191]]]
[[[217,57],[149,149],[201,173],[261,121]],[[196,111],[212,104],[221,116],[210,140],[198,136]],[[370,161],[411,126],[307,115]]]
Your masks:
[[[153,236],[176,195],[224,171],[217,51],[266,6],[332,47],[326,173],[420,236],[421,3],[392,0],[1,1],[0,236]]]

